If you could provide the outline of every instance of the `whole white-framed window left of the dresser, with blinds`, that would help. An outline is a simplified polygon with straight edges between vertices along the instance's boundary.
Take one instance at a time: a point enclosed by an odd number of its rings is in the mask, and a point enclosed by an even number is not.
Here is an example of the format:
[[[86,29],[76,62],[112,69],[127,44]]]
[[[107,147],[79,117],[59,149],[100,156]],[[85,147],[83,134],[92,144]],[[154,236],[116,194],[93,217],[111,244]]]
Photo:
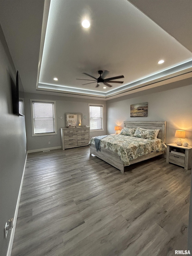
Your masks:
[[[56,102],[46,100],[31,101],[32,136],[57,134]]]

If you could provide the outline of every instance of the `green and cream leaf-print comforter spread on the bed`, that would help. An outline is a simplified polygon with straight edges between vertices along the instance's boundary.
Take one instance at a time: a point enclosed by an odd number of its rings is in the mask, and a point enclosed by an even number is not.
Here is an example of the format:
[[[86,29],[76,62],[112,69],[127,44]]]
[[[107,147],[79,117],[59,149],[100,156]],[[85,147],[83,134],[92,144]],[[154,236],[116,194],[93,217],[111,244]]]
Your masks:
[[[101,148],[109,149],[121,157],[125,165],[129,165],[129,161],[141,155],[151,152],[165,150],[167,146],[160,139],[143,139],[125,135],[108,135],[101,139]],[[95,144],[95,137],[91,138],[89,145]]]

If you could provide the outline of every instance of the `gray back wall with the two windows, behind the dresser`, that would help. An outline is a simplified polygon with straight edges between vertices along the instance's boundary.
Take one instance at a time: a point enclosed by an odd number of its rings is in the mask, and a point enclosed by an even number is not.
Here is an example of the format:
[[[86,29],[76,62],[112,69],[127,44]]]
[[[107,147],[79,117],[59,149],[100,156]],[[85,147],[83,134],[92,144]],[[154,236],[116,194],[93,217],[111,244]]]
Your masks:
[[[54,100],[56,101],[56,121],[57,121],[57,135],[46,135],[32,137],[32,124],[31,124],[31,108],[30,99],[41,100]],[[90,132],[90,136],[105,135],[107,133],[106,122],[106,101],[99,101],[95,99],[83,99],[72,98],[64,96],[44,95],[35,93],[25,93],[25,113],[26,113],[26,134],[27,134],[27,149],[45,149],[51,147],[61,146],[61,133],[60,128],[65,126],[65,113],[82,113],[82,116],[87,116],[87,119],[83,118],[83,125],[89,125],[88,119],[88,103],[104,104],[104,131]],[[59,117],[62,116],[63,120]],[[48,142],[50,141],[50,144]]]

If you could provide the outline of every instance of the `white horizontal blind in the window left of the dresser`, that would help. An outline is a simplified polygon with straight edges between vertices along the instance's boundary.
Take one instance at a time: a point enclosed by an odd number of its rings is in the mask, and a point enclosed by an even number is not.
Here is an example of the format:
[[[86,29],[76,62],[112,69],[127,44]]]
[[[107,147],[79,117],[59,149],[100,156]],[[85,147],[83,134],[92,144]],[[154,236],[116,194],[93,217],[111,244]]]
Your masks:
[[[54,103],[33,102],[34,134],[55,132]]]

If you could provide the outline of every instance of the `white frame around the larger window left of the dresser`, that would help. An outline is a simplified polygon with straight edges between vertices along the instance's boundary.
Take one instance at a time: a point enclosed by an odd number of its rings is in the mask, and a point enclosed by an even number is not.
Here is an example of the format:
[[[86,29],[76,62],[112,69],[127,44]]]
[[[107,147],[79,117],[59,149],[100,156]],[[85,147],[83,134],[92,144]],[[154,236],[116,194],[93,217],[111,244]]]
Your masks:
[[[51,104],[53,103],[53,104],[54,104],[55,132],[50,132],[50,133],[34,133],[33,102],[40,102],[40,103],[41,103],[41,102],[46,102],[46,103],[51,103]],[[32,137],[36,137],[36,136],[46,136],[46,135],[57,135],[56,101],[30,99],[30,106],[31,106]]]

